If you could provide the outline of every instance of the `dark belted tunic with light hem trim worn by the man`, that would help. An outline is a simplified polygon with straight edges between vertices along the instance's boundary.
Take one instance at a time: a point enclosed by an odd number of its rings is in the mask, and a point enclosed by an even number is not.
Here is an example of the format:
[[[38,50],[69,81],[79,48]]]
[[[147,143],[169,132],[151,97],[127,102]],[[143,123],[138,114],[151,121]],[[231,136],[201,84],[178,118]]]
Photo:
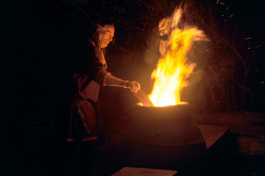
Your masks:
[[[107,74],[104,53],[87,41],[71,64],[70,74],[60,84],[61,100],[55,112],[55,130],[68,141],[90,141],[96,137],[96,116],[91,102],[98,100]]]

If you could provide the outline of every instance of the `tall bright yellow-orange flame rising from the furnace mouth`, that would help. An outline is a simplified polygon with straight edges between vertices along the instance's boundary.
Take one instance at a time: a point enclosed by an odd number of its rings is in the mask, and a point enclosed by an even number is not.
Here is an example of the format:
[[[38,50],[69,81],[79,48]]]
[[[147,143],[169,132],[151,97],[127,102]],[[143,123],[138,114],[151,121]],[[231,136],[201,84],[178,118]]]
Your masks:
[[[189,75],[193,72],[196,63],[186,63],[187,54],[194,41],[206,38],[202,30],[186,26],[179,29],[182,10],[176,9],[174,13],[159,22],[160,58],[157,68],[152,73],[155,79],[153,90],[148,95],[154,106],[169,106],[180,104],[180,91],[188,85]]]

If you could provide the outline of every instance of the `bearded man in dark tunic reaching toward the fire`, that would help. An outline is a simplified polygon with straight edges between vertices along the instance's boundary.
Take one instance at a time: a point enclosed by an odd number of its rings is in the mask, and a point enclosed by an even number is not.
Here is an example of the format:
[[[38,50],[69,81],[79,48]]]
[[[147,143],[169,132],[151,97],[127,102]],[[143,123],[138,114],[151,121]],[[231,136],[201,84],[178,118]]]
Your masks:
[[[63,166],[63,162],[67,161],[65,155],[77,148],[81,175],[93,173],[91,166],[95,160],[98,137],[92,104],[98,100],[100,85],[130,88],[135,93],[140,90],[138,82],[116,78],[106,71],[105,48],[113,40],[114,30],[113,24],[97,25],[93,37],[80,47],[69,79],[61,84],[62,96],[55,112],[55,130],[65,142],[55,160],[54,175],[67,175],[67,166]]]

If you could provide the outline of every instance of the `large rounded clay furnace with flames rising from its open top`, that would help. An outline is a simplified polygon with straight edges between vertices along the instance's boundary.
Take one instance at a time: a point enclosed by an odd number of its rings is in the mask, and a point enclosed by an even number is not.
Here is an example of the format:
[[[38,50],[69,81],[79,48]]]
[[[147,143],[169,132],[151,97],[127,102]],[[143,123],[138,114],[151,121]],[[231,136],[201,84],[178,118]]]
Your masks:
[[[120,168],[191,170],[205,167],[206,150],[189,103],[164,107],[136,104],[117,161]]]

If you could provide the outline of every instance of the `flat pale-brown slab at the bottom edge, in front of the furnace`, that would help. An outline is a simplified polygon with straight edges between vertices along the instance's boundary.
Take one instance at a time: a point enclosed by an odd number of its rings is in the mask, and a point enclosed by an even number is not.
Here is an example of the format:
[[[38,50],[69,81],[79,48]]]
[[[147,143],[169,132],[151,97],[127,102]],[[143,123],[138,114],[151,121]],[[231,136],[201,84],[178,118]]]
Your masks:
[[[113,174],[112,176],[172,176],[177,172],[178,171],[176,170],[125,167]]]

